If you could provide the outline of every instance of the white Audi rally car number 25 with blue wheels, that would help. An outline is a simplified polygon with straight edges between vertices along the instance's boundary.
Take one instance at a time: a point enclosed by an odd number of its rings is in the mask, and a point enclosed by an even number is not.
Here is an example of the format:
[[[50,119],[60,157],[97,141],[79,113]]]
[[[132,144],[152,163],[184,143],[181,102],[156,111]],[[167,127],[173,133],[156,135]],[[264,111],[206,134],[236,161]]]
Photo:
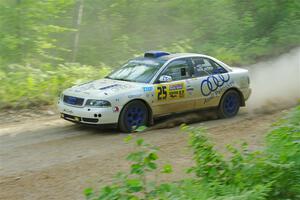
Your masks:
[[[66,89],[58,108],[66,120],[131,132],[183,111],[214,107],[220,117],[233,117],[250,93],[245,69],[207,55],[149,51],[104,79]]]

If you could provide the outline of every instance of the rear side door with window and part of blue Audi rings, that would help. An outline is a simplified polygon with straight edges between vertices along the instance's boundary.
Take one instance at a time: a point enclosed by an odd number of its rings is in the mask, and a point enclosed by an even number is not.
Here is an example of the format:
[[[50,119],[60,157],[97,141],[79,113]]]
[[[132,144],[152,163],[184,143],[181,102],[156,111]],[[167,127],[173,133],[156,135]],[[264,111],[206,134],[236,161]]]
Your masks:
[[[226,88],[230,87],[231,80],[227,70],[213,60],[206,57],[193,57],[193,85],[198,99],[195,108],[218,106],[220,98]]]

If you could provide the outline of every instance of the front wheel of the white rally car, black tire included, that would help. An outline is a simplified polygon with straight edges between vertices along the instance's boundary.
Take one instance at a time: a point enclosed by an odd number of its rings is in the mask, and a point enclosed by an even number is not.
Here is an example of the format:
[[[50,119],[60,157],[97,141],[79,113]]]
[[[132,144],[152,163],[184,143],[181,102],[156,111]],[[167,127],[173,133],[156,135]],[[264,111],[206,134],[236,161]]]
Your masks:
[[[119,129],[122,132],[130,133],[139,126],[147,126],[149,112],[142,101],[131,101],[125,105],[119,117]]]

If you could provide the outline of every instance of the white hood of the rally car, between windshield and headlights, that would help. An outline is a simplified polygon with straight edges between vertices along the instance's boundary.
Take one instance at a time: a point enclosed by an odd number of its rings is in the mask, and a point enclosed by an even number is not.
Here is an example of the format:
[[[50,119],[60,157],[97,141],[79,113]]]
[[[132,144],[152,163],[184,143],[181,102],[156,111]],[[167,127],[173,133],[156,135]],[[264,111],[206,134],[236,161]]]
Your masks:
[[[109,97],[116,94],[120,95],[122,93],[128,93],[133,90],[141,90],[142,92],[144,86],[147,86],[147,84],[112,79],[99,79],[73,86],[65,90],[64,94],[77,97]]]

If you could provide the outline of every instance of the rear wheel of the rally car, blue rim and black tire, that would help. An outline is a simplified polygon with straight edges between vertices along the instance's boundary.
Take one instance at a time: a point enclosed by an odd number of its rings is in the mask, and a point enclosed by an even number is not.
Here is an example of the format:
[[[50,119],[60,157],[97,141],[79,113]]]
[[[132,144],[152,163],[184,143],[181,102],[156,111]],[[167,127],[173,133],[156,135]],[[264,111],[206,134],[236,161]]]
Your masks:
[[[236,90],[229,90],[223,96],[218,108],[220,118],[234,117],[240,109],[241,97]]]

